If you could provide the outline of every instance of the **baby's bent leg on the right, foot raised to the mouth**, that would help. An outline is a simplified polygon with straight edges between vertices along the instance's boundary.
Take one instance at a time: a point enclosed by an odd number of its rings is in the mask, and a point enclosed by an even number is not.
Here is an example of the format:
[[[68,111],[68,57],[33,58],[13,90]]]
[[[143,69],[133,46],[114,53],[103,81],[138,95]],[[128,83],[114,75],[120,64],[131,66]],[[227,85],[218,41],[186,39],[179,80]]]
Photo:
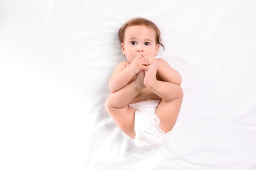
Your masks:
[[[162,101],[156,109],[156,114],[161,120],[160,128],[168,132],[177,121],[181,109],[183,92],[181,87],[177,84],[157,80],[157,69],[158,65],[156,64],[148,66],[148,71],[145,71],[146,76],[144,78],[144,84],[152,90],[152,92],[161,97]]]

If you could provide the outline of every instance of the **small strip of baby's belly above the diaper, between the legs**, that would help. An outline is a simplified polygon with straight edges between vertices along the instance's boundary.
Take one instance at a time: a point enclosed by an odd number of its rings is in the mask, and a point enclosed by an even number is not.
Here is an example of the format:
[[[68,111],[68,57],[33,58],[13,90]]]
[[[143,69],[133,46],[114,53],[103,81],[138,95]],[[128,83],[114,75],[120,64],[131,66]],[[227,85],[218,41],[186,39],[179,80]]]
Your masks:
[[[148,88],[144,88],[131,103],[140,103],[142,101],[150,101],[150,100],[159,100],[161,99],[156,93],[148,90]]]

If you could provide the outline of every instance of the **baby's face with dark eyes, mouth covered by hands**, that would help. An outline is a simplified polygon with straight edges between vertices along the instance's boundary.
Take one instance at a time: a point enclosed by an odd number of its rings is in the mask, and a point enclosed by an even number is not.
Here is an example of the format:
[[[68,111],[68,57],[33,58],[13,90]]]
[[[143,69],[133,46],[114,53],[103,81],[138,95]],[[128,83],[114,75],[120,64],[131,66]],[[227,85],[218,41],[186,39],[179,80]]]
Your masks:
[[[144,25],[127,27],[125,39],[121,43],[123,55],[131,63],[138,56],[157,56],[159,44],[156,43],[156,33]]]

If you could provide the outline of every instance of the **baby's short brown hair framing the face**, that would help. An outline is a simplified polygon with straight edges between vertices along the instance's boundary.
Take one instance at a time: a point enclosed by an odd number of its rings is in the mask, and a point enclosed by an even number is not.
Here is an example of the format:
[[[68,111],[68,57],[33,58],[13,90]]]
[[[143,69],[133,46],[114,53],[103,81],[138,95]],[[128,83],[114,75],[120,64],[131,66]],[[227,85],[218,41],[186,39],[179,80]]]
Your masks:
[[[154,22],[147,20],[145,18],[133,18],[132,20],[129,20],[128,22],[123,24],[123,26],[120,27],[118,31],[118,38],[121,43],[123,43],[125,39],[125,30],[127,29],[127,27],[135,25],[145,25],[146,27],[154,29],[154,31],[156,32],[156,42],[160,44],[163,47],[163,49],[165,49],[165,46],[163,46],[163,43],[161,42],[160,29],[156,24],[154,24]]]

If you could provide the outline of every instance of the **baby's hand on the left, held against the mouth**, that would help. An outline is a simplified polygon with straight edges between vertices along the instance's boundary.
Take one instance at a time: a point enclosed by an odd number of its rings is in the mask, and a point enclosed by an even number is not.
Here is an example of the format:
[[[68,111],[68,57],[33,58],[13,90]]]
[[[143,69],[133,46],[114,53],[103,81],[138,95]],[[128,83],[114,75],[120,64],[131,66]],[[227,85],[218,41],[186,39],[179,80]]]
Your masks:
[[[148,66],[148,62],[145,61],[143,56],[138,55],[136,56],[136,58],[133,59],[133,61],[131,61],[128,67],[133,73],[138,74],[142,70],[148,70],[146,66]]]

